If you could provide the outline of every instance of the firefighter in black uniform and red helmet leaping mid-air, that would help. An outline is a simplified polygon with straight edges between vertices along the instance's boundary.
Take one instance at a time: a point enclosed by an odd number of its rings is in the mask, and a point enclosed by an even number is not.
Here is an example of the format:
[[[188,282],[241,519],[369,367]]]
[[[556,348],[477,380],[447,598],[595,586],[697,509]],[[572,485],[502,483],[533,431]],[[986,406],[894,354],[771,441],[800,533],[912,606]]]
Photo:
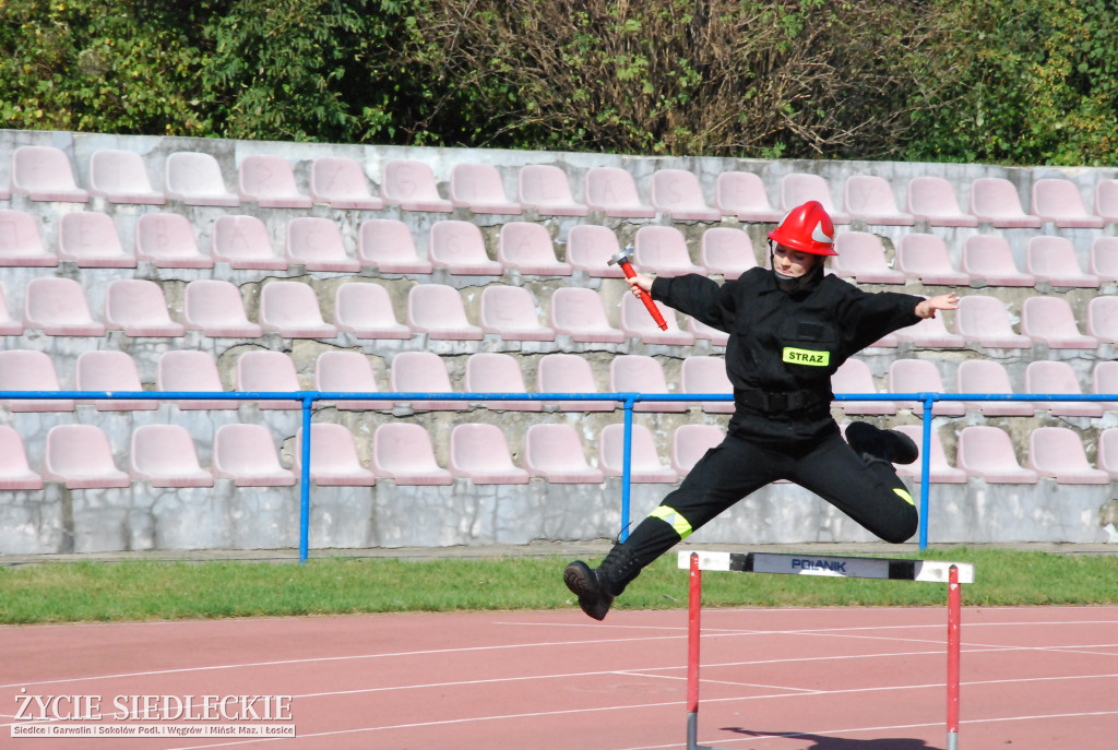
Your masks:
[[[834,225],[818,201],[792,209],[769,232],[769,269],[718,283],[698,274],[626,279],[653,298],[730,334],[726,371],[735,411],[727,436],[710,449],[598,568],[581,560],[563,582],[594,619],[653,560],[742,497],[776,480],[819,495],[880,539],[900,543],[919,514],[893,464],[918,457],[908,436],[854,423],[842,439],[831,417],[831,376],[847,358],[958,297],[925,300],[871,294],[824,275]]]

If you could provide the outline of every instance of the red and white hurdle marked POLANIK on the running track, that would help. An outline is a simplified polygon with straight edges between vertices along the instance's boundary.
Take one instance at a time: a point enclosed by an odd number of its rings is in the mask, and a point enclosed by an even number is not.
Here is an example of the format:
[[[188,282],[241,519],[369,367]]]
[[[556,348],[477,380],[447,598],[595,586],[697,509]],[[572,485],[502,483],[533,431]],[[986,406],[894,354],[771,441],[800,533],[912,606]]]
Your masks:
[[[703,570],[947,583],[947,750],[958,750],[959,626],[963,602],[960,586],[974,582],[973,564],[935,560],[684,550],[679,553],[679,567],[691,571],[688,594],[688,750],[720,750],[699,744],[699,614],[702,608]]]

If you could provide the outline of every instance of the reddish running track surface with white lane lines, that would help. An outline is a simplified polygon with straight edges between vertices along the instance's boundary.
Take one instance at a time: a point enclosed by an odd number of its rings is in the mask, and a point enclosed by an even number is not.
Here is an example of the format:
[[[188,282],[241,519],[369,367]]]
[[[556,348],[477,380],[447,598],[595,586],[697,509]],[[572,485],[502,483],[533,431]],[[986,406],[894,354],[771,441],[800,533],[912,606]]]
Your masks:
[[[700,743],[946,747],[946,606],[702,618]],[[1118,607],[966,608],[961,633],[960,750],[1118,747]],[[0,748],[683,748],[685,666],[683,609],[7,627]],[[291,695],[297,737],[11,735],[17,696],[75,694],[98,724],[115,696]]]

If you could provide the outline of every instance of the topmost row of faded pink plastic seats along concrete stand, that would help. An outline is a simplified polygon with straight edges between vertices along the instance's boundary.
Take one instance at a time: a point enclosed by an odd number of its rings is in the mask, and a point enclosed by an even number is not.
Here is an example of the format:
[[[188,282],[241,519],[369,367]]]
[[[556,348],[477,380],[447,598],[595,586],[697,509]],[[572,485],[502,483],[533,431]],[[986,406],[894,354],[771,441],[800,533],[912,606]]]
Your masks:
[[[1022,207],[1017,188],[1004,178],[978,178],[970,186],[968,210],[959,208],[955,188],[942,178],[919,177],[909,181],[906,210],[900,210],[892,186],[881,177],[853,175],[843,186],[839,209],[826,180],[817,174],[793,173],[780,181],[779,211],[774,210],[765,183],[752,172],[718,175],[713,206],[699,178],[680,169],[660,169],[648,180],[644,202],[633,175],[620,168],[598,167],[586,171],[581,201],[576,200],[567,173],[550,164],[529,164],[517,173],[517,194],[505,191],[500,171],[491,164],[459,163],[449,174],[449,198],[438,191],[432,168],[421,161],[385,163],[380,192],[375,196],[364,167],[352,159],[322,158],[311,164],[309,192],[302,192],[287,159],[253,154],[237,165],[237,191],[227,188],[217,159],[202,152],[177,152],[163,164],[163,189],[155,189],[144,158],[131,151],[101,150],[88,164],[88,190],[79,188],[65,151],[53,146],[19,146],[11,155],[11,186],[0,186],[0,199],[25,194],[31,200],[87,202],[92,196],[110,202],[163,205],[180,200],[195,206],[235,207],[254,202],[263,208],[311,208],[325,203],[340,209],[377,210],[399,206],[404,210],[452,212],[468,208],[475,213],[519,215],[534,209],[549,216],[606,216],[651,218],[657,212],[675,220],[778,221],[784,211],[806,200],[818,200],[836,224],[864,219],[870,224],[911,226],[917,219],[939,226],[1039,228],[1051,221],[1058,227],[1101,228],[1118,222],[1118,180],[1100,180],[1095,187],[1093,209],[1088,211],[1079,186],[1071,180],[1039,179],[1032,183],[1030,211]]]

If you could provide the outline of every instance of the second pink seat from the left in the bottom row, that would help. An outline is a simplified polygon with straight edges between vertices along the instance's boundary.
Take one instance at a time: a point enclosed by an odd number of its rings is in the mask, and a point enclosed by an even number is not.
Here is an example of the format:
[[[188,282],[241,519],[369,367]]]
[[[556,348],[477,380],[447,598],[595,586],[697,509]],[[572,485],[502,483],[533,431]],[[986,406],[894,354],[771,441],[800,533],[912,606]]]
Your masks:
[[[127,487],[129,475],[116,468],[108,436],[93,425],[58,425],[47,433],[42,478],[65,482],[67,490]]]

